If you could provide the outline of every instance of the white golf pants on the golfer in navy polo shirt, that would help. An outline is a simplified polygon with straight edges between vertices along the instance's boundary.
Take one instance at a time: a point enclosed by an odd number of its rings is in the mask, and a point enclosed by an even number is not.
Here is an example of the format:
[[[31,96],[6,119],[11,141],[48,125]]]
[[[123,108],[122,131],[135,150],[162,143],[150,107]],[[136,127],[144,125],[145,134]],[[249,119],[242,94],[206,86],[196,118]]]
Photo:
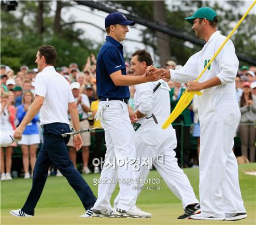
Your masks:
[[[102,108],[103,107],[103,108]],[[132,190],[132,185],[127,180],[135,178],[135,171],[129,159],[135,158],[134,129],[131,125],[127,104],[122,101],[100,101],[101,125],[105,130],[107,151],[105,163],[101,171],[101,181],[110,179],[108,184],[98,184],[98,199],[94,209],[109,209],[110,197],[119,181],[120,199],[118,208],[129,210],[135,206],[137,192]],[[124,163],[124,165],[123,165]],[[106,181],[106,180],[105,180]]]

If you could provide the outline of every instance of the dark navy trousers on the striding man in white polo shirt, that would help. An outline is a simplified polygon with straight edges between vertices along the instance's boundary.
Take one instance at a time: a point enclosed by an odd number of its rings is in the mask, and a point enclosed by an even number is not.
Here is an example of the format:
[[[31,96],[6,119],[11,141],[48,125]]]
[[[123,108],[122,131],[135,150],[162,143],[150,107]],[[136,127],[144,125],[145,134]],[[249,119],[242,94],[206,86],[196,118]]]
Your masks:
[[[28,194],[27,201],[22,207],[24,213],[34,215],[36,203],[38,203],[43,192],[44,184],[46,184],[48,168],[52,163],[55,164],[63,176],[66,177],[69,184],[79,196],[85,210],[93,207],[96,202],[96,197],[89,185],[82,178],[69,158],[68,150],[65,145],[65,141],[67,140],[64,140],[60,135],[69,131],[68,124],[56,122],[44,126],[44,143],[36,159],[32,189],[30,194]]]

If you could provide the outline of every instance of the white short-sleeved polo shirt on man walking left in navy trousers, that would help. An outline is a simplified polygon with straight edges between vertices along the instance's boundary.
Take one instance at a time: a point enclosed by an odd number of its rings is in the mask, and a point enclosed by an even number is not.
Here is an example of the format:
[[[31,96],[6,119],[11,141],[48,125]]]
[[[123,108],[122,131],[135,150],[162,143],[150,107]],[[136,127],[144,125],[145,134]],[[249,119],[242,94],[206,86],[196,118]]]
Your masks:
[[[44,97],[44,104],[40,109],[40,124],[69,124],[68,103],[75,100],[69,83],[53,66],[47,66],[36,75],[35,95]]]

